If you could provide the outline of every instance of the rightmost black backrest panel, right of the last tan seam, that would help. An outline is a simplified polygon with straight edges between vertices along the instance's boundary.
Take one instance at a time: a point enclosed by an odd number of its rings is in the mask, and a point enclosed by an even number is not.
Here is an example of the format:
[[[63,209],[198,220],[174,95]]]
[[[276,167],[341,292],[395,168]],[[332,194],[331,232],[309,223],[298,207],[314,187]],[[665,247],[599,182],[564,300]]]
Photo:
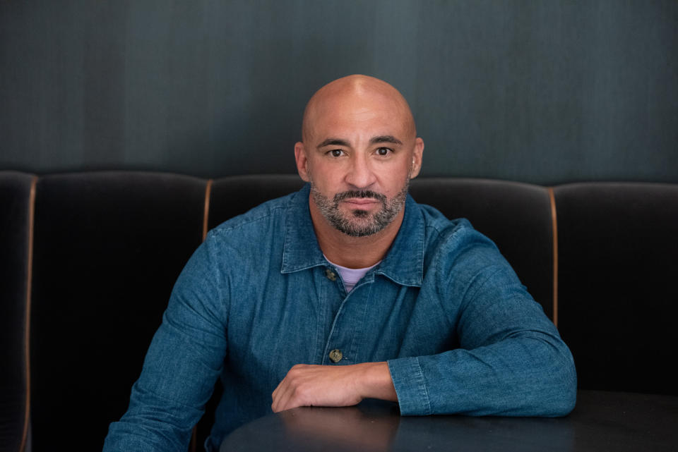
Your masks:
[[[579,387],[678,395],[678,185],[554,193],[559,329]]]

